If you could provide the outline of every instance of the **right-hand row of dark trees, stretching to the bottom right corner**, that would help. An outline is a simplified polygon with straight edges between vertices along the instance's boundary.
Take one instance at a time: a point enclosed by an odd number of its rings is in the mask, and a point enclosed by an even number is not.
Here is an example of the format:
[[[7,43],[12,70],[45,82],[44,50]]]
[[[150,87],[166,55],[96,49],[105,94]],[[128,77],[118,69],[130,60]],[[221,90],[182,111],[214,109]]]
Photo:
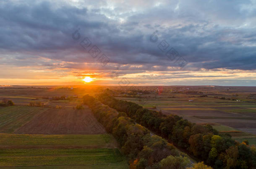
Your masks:
[[[158,135],[203,160],[215,169],[251,169],[256,166],[256,149],[228,134],[219,134],[211,125],[192,124],[176,115],[142,108],[136,103],[117,100],[102,93],[99,101],[134,119]]]

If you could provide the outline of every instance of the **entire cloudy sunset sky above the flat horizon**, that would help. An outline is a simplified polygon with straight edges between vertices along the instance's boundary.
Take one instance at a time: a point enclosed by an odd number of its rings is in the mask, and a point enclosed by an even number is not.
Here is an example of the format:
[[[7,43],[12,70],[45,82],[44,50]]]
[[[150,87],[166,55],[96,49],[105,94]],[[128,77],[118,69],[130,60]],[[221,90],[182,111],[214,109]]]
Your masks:
[[[256,0],[2,0],[0,85],[255,86]]]

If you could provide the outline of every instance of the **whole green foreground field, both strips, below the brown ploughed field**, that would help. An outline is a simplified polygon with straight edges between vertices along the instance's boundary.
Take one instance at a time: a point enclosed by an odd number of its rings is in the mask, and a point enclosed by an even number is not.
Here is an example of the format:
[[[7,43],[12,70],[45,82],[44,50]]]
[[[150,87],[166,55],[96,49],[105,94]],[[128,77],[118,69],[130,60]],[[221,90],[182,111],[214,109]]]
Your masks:
[[[0,134],[0,166],[128,169],[110,134]]]

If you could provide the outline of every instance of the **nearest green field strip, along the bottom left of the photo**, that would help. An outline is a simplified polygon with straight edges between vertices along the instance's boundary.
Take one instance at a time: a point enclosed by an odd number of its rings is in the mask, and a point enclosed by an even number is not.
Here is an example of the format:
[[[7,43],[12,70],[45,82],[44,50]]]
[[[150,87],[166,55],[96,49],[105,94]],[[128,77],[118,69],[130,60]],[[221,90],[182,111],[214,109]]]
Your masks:
[[[0,166],[94,165],[125,161],[118,149],[1,149]]]

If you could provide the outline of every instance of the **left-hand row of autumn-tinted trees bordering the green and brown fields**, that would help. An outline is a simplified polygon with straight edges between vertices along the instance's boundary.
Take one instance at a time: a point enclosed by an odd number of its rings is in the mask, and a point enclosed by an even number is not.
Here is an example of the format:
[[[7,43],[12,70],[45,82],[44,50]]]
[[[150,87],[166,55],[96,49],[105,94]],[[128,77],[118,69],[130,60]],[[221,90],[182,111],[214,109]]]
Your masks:
[[[185,169],[191,164],[186,154],[179,153],[172,144],[151,134],[125,113],[118,113],[89,95],[84,96],[84,103],[118,141],[131,169]]]

